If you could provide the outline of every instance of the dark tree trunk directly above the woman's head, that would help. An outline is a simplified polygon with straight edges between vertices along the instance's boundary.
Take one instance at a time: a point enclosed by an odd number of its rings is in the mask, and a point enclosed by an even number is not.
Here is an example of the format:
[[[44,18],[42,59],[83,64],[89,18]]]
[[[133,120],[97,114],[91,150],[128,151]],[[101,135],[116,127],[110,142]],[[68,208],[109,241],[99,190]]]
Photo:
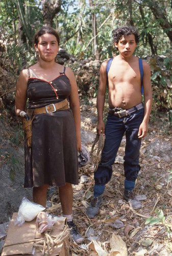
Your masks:
[[[43,0],[42,16],[44,25],[53,27],[53,19],[61,9],[61,0]]]

